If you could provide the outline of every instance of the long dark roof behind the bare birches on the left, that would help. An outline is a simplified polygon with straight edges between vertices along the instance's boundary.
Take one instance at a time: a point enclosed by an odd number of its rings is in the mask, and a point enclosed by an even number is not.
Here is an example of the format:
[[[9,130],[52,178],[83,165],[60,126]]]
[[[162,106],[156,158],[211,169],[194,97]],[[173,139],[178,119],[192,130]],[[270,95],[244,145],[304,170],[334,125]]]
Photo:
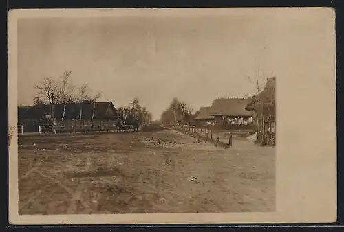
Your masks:
[[[95,106],[94,106],[95,104]],[[95,107],[95,108],[94,108]],[[64,104],[54,105],[54,116],[56,119],[62,119]],[[94,109],[94,119],[107,119],[107,111],[112,108],[115,116],[118,116],[118,111],[114,107],[112,102],[81,102],[81,103],[69,103],[65,106],[64,119],[79,119],[80,110],[82,108],[82,119],[91,120]],[[50,114],[50,105],[41,106],[25,106],[18,108],[18,115],[21,119],[42,119],[45,115]]]

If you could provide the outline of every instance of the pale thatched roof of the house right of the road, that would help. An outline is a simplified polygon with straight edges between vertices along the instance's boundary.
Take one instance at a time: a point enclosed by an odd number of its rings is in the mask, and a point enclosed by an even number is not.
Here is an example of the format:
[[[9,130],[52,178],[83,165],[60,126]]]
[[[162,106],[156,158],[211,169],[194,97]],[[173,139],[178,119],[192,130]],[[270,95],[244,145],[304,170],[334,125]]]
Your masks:
[[[213,100],[209,115],[222,115],[232,117],[250,117],[252,112],[246,110],[250,98],[219,98]]]

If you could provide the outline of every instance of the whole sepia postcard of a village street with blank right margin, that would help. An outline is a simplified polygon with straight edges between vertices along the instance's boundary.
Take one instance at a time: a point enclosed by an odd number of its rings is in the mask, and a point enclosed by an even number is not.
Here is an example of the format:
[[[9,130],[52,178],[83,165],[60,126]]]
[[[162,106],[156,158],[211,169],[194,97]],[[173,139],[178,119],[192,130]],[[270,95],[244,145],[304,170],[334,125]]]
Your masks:
[[[10,149],[9,158],[16,217],[188,223],[182,218],[189,215],[189,223],[203,223],[246,213],[252,217],[237,222],[288,222],[299,216],[292,207],[310,207],[311,198],[313,210],[334,219],[331,9],[12,13],[8,142],[17,152]],[[317,97],[329,109],[313,116]],[[313,124],[319,117],[327,124]],[[314,127],[327,133],[319,148],[309,138]],[[317,149],[319,163],[310,165],[322,165],[318,187],[327,192],[314,198],[302,185],[315,186],[318,177],[302,176],[319,169],[301,165],[311,159],[303,151]],[[278,202],[287,208],[278,210]],[[181,220],[164,220],[169,215]]]

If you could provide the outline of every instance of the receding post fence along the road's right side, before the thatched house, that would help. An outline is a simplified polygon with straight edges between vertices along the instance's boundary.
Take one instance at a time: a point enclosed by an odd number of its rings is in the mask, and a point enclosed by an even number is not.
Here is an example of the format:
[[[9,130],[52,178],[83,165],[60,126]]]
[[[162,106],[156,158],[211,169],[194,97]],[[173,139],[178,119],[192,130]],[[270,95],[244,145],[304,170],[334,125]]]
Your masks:
[[[222,145],[224,148],[228,148],[233,144],[232,132],[222,132],[220,130],[211,130],[208,128],[196,128],[195,126],[189,125],[173,126],[173,129],[186,135],[190,135],[200,141],[204,141],[205,143],[214,143],[215,146]]]

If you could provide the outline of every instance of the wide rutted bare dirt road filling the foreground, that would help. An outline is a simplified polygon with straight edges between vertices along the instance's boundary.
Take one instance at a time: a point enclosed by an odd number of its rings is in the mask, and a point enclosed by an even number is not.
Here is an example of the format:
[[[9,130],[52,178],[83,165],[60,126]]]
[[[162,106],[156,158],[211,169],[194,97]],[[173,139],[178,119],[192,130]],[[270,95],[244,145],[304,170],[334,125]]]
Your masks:
[[[171,130],[19,137],[20,214],[239,211],[275,211],[275,148]]]

